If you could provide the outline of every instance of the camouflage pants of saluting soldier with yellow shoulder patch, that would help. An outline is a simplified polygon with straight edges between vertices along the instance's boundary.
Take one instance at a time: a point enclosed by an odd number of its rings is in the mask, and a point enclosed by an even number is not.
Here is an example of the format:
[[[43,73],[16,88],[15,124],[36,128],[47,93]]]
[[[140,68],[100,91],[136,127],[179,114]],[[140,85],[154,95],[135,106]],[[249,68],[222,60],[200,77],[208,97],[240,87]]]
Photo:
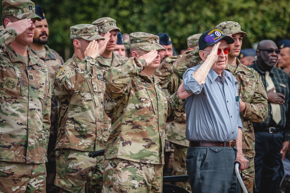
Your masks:
[[[89,152],[76,149],[57,149],[55,152],[55,185],[61,188],[61,192],[102,191],[103,156],[90,158]]]

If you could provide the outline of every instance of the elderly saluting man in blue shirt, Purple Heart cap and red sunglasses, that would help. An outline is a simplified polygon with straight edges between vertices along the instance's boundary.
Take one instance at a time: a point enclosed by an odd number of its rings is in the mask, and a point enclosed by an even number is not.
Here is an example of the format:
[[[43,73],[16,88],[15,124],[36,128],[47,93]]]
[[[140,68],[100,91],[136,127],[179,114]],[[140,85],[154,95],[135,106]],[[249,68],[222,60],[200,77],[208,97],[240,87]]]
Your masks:
[[[231,50],[227,44],[234,42],[219,29],[204,32],[199,39],[204,62],[183,75],[184,89],[193,93],[185,102],[190,141],[186,168],[193,192],[236,192],[234,162],[248,167],[242,154],[238,81],[224,70]]]

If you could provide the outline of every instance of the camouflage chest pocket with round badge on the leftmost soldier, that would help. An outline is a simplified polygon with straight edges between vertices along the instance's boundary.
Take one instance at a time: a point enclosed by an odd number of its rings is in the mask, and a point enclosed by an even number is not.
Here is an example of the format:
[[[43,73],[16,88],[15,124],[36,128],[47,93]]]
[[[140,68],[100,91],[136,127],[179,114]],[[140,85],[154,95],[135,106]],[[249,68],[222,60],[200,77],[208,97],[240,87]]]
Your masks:
[[[23,79],[18,68],[10,68],[0,72],[1,98],[17,98],[25,96]]]

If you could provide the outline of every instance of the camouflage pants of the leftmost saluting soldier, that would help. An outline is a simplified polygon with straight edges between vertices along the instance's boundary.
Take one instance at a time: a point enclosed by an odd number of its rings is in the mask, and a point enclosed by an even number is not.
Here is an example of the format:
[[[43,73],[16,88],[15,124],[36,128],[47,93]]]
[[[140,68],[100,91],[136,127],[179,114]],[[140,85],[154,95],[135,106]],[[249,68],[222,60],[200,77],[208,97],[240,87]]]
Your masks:
[[[0,161],[0,192],[45,193],[45,163]]]

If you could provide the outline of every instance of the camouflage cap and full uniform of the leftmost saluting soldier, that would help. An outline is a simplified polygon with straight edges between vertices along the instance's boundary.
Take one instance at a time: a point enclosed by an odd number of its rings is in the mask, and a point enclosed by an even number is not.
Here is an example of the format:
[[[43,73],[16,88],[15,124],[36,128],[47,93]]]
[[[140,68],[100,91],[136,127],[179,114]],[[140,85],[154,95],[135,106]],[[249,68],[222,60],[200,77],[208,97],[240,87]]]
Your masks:
[[[31,1],[2,1],[2,6],[3,16],[41,20]],[[0,33],[0,192],[45,192],[49,70],[29,49],[26,62],[8,46],[16,37],[13,28]]]

